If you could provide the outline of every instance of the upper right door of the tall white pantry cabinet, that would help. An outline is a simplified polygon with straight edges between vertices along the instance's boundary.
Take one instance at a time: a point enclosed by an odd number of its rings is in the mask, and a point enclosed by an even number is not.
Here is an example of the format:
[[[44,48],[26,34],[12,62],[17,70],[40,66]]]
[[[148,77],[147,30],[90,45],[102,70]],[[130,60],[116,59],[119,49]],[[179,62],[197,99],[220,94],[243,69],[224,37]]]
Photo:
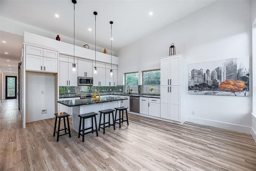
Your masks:
[[[180,86],[179,57],[170,58],[170,85]]]

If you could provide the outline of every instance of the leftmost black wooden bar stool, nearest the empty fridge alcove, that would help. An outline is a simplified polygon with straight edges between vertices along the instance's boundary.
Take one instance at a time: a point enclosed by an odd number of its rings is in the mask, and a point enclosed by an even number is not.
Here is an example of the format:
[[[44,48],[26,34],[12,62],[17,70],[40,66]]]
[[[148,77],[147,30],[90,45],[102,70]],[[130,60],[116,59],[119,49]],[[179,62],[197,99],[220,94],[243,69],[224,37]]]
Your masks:
[[[69,128],[69,114],[67,114],[66,112],[61,112],[61,113],[54,113],[54,115],[55,115],[55,124],[54,124],[53,137],[55,137],[55,133],[57,133],[57,142],[59,141],[59,137],[62,135],[69,134],[69,138],[70,138],[71,133],[70,133],[70,128]],[[59,123],[58,123],[58,130],[56,131],[57,118],[59,118]],[[63,118],[63,121],[64,121],[64,129],[60,129],[61,118]],[[68,127],[66,127],[65,118],[67,118]],[[63,131],[63,130],[65,130],[65,133],[59,135],[59,131]],[[67,131],[68,131],[68,133],[67,133]]]

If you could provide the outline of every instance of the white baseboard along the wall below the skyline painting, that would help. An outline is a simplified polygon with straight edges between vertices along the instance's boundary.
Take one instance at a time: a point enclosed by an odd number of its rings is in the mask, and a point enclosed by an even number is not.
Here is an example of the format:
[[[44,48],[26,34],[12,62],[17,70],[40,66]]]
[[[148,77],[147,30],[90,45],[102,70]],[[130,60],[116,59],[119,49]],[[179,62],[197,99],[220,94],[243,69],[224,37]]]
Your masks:
[[[201,118],[196,118],[196,117],[186,117],[187,122],[192,122],[192,123],[198,123],[202,125],[207,125],[211,127],[217,127],[217,128],[222,128],[222,129],[228,129],[231,131],[238,131],[241,133],[246,133],[246,134],[251,134],[251,127],[243,126],[243,125],[236,125],[232,123],[225,123],[225,122],[220,122],[220,121],[212,121],[208,119],[201,119]]]

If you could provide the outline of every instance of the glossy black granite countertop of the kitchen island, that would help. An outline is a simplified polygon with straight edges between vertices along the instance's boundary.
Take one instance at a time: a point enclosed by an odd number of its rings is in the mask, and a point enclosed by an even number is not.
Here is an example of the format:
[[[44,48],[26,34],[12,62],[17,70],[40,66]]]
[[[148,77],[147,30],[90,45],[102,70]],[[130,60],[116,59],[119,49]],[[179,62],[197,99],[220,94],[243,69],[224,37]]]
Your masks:
[[[81,106],[81,105],[91,105],[96,103],[106,103],[110,101],[118,101],[118,100],[127,100],[127,98],[122,97],[100,97],[99,100],[92,100],[92,98],[87,99],[76,99],[76,100],[62,100],[57,101],[60,104],[63,104],[68,107]]]

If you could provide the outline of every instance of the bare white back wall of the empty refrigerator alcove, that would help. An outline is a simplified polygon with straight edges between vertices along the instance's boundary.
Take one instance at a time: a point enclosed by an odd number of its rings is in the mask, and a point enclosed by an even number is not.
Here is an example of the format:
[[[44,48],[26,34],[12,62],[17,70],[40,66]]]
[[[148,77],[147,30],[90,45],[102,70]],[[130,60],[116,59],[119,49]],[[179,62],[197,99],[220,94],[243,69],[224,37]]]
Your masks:
[[[42,109],[47,114],[41,115]],[[26,123],[52,118],[54,112],[54,74],[26,72]]]

